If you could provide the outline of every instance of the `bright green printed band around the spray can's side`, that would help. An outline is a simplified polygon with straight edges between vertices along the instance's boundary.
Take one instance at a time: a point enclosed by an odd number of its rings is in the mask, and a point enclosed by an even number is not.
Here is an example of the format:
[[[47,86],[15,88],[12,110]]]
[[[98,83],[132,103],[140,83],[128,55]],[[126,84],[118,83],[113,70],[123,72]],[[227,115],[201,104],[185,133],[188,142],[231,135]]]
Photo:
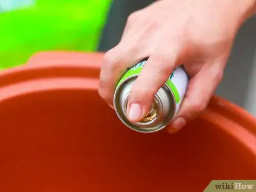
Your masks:
[[[119,86],[122,81],[126,80],[126,78],[133,76],[133,75],[139,75],[142,68],[144,67],[145,63],[146,63],[146,61],[142,61],[140,63],[137,63],[135,66],[131,67],[130,70],[127,71],[124,76],[122,76],[120,81],[117,83],[117,86]],[[171,73],[170,77],[166,81],[166,85],[168,85],[170,87],[170,89],[173,91],[176,104],[178,104],[180,102],[180,95],[179,95],[179,92],[178,92],[176,86],[174,85],[173,81],[171,81],[171,79],[173,77],[174,77],[174,72]]]

